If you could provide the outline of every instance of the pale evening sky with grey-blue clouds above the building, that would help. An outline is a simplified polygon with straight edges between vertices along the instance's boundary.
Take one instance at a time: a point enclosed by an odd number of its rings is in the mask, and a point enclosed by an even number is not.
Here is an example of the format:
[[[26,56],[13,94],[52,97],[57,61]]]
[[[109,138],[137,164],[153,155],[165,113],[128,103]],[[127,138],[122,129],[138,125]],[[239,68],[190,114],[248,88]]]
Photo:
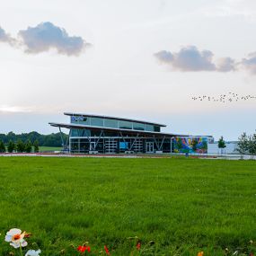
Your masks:
[[[0,133],[49,134],[65,111],[236,140],[256,128],[255,0],[9,0],[0,8]]]

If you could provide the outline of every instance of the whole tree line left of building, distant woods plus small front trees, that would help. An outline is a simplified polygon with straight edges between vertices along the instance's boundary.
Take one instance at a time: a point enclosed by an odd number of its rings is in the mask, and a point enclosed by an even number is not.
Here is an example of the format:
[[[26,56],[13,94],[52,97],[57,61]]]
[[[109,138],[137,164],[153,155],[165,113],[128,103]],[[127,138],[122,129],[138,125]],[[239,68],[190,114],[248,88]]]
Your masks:
[[[67,135],[62,133],[66,142]],[[36,131],[30,133],[15,134],[12,131],[7,134],[0,134],[0,147],[2,150],[7,147],[8,152],[31,152],[32,147],[37,146],[62,146],[60,133],[42,135]],[[9,151],[9,149],[10,151]],[[13,148],[13,151],[11,151]]]

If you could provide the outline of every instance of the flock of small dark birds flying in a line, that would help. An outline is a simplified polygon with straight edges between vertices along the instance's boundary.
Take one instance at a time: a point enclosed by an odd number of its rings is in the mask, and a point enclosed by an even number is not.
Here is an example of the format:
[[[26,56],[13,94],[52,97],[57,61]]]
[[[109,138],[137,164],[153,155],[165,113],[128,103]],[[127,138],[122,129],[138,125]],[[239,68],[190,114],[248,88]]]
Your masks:
[[[239,102],[239,101],[250,101],[256,100],[256,96],[253,95],[243,95],[240,96],[237,93],[226,93],[220,94],[218,97],[213,97],[209,95],[193,96],[193,101],[208,101],[208,102]]]

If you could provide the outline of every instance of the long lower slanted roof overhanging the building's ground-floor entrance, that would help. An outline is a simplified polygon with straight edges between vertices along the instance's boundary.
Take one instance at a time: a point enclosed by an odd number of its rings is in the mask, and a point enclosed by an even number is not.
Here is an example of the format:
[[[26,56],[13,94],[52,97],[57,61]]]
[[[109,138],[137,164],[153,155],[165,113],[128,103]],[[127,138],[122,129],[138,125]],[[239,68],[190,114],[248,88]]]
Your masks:
[[[105,128],[105,127],[94,127],[82,124],[65,124],[65,123],[49,123],[52,127],[58,128],[89,128],[93,130],[106,130],[106,131],[118,131],[118,132],[126,132],[129,134],[143,134],[143,135],[155,135],[155,136],[166,136],[166,137],[174,137],[174,136],[181,136],[181,137],[188,137],[189,135],[180,135],[180,134],[173,134],[173,133],[163,133],[163,132],[154,132],[154,131],[146,131],[146,130],[135,130],[135,129],[124,129],[124,128]]]

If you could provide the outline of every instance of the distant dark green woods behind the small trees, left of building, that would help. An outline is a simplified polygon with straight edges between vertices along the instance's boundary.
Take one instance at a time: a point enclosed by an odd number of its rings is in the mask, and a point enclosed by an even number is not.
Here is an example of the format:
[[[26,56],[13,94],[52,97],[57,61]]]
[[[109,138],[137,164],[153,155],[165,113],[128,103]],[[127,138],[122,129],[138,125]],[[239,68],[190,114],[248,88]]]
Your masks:
[[[64,141],[66,143],[66,138],[68,137],[65,133],[62,133]],[[22,140],[22,142],[31,141],[33,145],[34,142],[37,140],[39,146],[62,146],[60,133],[52,133],[49,135],[43,135],[36,131],[32,131],[30,133],[22,133],[22,134],[15,134],[12,131],[7,134],[0,134],[0,141],[3,141],[5,145],[9,143],[9,141],[13,141],[17,143],[17,141]]]

